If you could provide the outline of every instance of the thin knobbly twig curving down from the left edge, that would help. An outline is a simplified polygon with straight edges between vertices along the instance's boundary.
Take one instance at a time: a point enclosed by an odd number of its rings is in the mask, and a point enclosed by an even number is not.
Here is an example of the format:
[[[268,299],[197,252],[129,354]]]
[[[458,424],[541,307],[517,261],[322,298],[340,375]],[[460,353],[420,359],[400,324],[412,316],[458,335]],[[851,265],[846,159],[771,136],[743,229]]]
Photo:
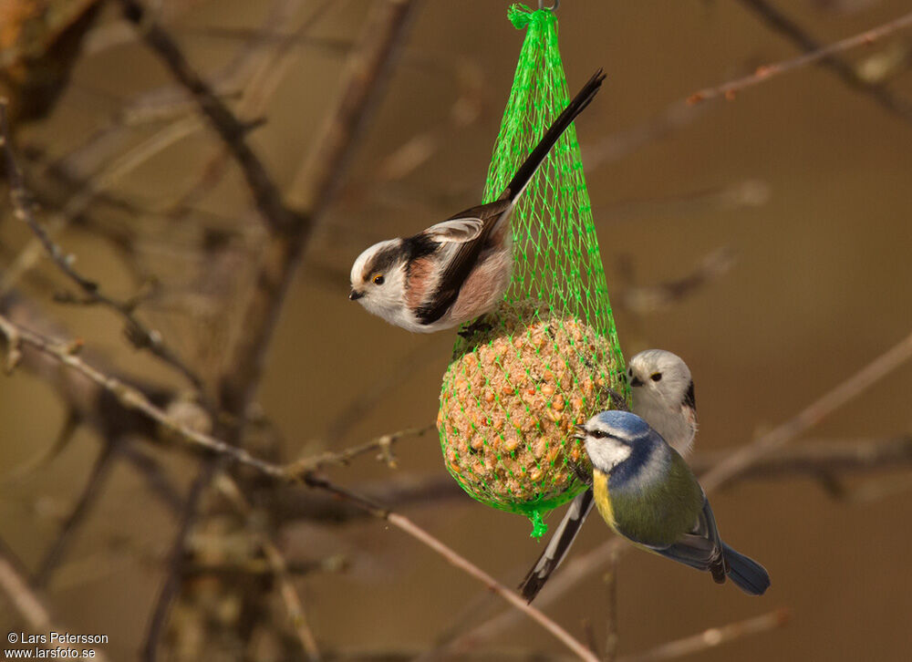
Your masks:
[[[6,173],[10,182],[10,199],[13,202],[16,217],[28,225],[32,233],[36,235],[45,247],[54,264],[57,264],[60,271],[66,274],[73,283],[77,284],[89,301],[105,305],[123,317],[127,323],[128,337],[134,347],[149,349],[153,355],[180,371],[184,377],[191,381],[194,387],[202,388],[201,378],[165,344],[161,333],[140,322],[137,316],[133,314],[133,306],[120,303],[105,295],[101,292],[98,283],[89,280],[73,268],[73,257],[64,253],[60,246],[51,239],[50,234],[37,222],[35,215],[32,213],[32,197],[26,190],[26,182],[13,153],[12,137],[6,116],[6,100],[4,98],[0,98],[0,136],[2,136],[0,138],[0,146],[4,150]]]

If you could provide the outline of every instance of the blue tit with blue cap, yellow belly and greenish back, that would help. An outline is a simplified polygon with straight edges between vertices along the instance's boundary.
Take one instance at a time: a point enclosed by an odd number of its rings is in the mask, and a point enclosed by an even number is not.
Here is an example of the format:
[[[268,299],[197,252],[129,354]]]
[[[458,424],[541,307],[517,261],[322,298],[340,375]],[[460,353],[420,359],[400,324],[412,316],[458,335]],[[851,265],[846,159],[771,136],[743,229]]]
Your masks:
[[[596,508],[615,533],[648,552],[731,578],[762,595],[770,575],[723,543],[710,502],[677,450],[636,414],[603,411],[580,426]]]

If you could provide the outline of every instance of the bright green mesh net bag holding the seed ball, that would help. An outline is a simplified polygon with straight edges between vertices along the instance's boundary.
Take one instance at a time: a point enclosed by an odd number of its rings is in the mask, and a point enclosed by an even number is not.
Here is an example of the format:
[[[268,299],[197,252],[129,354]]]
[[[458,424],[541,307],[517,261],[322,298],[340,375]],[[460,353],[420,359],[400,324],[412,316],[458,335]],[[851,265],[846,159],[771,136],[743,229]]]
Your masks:
[[[548,10],[513,5],[523,49],[484,191],[494,200],[566,106],[569,95]],[[520,512],[533,535],[542,515],[585,488],[575,425],[629,398],[624,357],[575,129],[554,146],[512,219],[513,280],[503,303],[461,329],[440,391],[447,469],[480,502]]]

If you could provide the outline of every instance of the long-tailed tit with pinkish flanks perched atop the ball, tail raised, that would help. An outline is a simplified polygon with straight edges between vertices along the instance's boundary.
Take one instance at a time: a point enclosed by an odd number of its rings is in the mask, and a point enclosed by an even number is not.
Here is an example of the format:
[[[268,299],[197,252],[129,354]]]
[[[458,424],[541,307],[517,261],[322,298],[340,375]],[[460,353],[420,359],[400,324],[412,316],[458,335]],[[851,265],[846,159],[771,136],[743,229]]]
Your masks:
[[[368,313],[418,333],[459,326],[491,312],[510,284],[513,208],[604,79],[602,70],[596,71],[554,119],[496,201],[454,214],[405,239],[375,243],[358,255],[348,298]]]

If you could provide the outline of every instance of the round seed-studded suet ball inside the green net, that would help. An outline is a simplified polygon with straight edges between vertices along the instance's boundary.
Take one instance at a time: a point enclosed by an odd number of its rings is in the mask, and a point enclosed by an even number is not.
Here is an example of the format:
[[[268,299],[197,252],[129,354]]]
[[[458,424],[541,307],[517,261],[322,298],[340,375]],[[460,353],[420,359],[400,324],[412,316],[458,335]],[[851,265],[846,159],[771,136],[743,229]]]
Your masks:
[[[620,353],[544,302],[506,303],[463,331],[437,419],[447,469],[475,499],[530,514],[582,490],[575,426],[625,392]]]

